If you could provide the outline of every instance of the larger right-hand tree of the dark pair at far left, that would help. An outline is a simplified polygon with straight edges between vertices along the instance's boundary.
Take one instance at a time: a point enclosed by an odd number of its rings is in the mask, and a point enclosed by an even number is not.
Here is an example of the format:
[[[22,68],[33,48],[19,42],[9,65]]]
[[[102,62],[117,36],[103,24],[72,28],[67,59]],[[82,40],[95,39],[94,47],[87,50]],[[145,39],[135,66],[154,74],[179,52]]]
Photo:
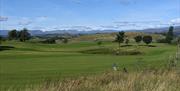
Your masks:
[[[31,37],[31,34],[28,33],[28,30],[26,28],[24,28],[23,30],[19,32],[19,40],[21,42],[25,42],[26,40],[29,40],[30,37]]]

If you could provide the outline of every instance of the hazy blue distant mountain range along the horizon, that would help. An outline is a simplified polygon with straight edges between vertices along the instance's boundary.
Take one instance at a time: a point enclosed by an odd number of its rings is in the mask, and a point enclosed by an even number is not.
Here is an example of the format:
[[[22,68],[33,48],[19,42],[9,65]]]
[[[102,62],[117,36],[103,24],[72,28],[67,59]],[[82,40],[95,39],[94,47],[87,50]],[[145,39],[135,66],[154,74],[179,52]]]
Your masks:
[[[163,33],[168,31],[168,27],[163,28],[149,28],[144,30],[125,30],[129,32],[145,32],[145,33]],[[91,31],[78,31],[78,30],[53,30],[53,31],[41,31],[30,30],[31,35],[46,35],[46,34],[95,34],[95,33],[112,33],[122,30],[91,30]],[[9,30],[0,30],[1,36],[7,36]],[[174,34],[180,35],[180,26],[174,28]]]

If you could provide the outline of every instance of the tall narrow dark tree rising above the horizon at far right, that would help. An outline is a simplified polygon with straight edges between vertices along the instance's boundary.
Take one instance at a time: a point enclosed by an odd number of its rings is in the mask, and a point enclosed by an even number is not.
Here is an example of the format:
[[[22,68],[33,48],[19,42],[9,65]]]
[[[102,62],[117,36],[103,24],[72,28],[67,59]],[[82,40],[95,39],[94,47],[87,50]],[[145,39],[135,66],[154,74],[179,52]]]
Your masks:
[[[170,26],[169,31],[166,34],[166,42],[169,43],[169,44],[171,43],[171,41],[174,38],[173,30],[174,30],[174,27]]]

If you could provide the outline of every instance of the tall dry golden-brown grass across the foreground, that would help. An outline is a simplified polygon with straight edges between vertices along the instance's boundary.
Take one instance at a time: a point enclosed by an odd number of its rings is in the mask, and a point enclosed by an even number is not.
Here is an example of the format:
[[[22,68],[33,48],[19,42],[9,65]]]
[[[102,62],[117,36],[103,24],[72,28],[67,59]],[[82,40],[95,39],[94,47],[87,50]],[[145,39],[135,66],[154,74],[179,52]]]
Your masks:
[[[14,91],[16,88],[8,89]],[[18,91],[180,91],[176,71],[106,72],[101,75],[46,81]]]

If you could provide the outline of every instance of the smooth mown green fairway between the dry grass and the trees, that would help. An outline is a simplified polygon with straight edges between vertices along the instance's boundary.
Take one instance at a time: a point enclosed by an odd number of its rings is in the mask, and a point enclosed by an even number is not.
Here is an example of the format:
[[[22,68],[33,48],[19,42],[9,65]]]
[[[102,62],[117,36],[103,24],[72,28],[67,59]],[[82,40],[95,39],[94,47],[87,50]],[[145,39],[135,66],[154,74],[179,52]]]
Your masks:
[[[62,79],[80,75],[99,74],[112,68],[128,71],[163,67],[176,46],[153,43],[147,46],[122,47],[135,49],[140,55],[88,54],[80,51],[100,48],[95,42],[74,42],[69,44],[39,44],[4,42],[3,46],[14,46],[11,50],[0,51],[0,86],[23,87],[38,84],[45,79]],[[117,43],[103,42],[103,48],[117,48]]]

